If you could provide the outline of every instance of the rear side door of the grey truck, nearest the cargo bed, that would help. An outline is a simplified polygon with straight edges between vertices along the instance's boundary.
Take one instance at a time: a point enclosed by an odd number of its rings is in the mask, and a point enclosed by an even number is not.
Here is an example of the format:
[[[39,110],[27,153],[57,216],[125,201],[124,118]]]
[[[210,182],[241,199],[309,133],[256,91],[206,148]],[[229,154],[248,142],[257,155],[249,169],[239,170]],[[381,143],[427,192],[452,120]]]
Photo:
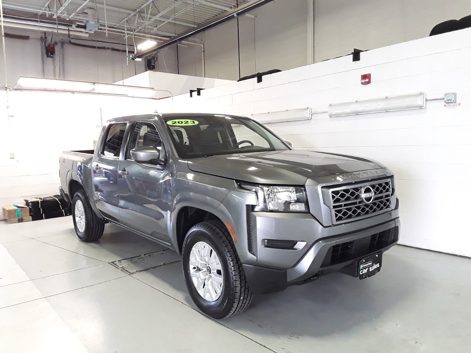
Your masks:
[[[93,197],[100,213],[111,220],[119,217],[118,168],[127,123],[110,124],[98,156],[93,160]]]

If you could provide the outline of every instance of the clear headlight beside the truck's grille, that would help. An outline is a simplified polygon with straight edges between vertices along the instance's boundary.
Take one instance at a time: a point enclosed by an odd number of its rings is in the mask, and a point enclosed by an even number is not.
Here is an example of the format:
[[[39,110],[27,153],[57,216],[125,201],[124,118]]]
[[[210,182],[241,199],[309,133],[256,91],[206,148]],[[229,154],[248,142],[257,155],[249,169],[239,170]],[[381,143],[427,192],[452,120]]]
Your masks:
[[[263,186],[241,184],[257,194],[254,211],[308,212],[306,192],[299,186]]]

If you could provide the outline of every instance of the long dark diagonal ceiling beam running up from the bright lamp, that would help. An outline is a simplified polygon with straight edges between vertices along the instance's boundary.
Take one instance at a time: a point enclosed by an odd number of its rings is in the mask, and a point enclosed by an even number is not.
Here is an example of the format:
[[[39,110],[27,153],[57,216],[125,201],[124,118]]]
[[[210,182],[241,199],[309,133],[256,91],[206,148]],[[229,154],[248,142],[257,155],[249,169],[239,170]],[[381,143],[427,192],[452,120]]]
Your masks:
[[[216,16],[216,17],[212,18],[211,20],[209,20],[209,21],[207,21],[203,24],[198,25],[195,28],[192,28],[192,29],[188,30],[187,32],[183,32],[183,33],[179,34],[178,36],[176,36],[174,38],[171,38],[169,40],[165,40],[160,44],[156,43],[156,46],[154,48],[149,48],[149,49],[143,50],[142,52],[137,52],[133,57],[139,59],[139,58],[142,58],[144,56],[148,56],[150,54],[153,54],[156,51],[161,50],[163,48],[166,48],[166,47],[168,47],[172,44],[178,43],[182,40],[193,37],[198,33],[207,31],[211,28],[219,26],[220,24],[223,24],[223,23],[226,23],[226,22],[228,22],[232,19],[235,19],[235,18],[237,18],[237,16],[241,16],[244,13],[252,11],[253,9],[258,8],[262,5],[265,5],[265,4],[267,4],[268,2],[271,2],[271,1],[273,1],[273,0],[253,0],[253,1],[251,1],[247,4],[245,4],[245,5],[241,6],[240,8],[235,8],[235,9],[232,9],[230,11],[224,12],[221,15]]]

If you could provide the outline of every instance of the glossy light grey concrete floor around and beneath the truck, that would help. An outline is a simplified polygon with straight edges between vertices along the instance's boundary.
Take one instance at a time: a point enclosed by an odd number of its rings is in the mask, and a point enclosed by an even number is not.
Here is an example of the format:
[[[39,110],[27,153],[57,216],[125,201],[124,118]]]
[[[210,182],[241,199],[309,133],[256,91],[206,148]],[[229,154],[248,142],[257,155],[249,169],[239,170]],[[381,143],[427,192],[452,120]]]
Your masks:
[[[214,321],[180,263],[108,264],[159,249],[115,225],[83,243],[71,217],[0,222],[0,352],[471,352],[471,259],[396,246],[370,279],[333,273]]]

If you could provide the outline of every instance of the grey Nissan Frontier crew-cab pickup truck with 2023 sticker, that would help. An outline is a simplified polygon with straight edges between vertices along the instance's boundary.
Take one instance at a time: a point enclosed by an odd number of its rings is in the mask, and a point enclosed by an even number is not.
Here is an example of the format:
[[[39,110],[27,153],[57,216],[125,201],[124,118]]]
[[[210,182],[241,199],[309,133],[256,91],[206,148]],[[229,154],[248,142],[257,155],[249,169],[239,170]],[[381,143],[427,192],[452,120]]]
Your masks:
[[[370,277],[399,237],[388,168],[294,150],[240,116],[111,120],[95,151],[62,153],[60,180],[82,241],[112,222],[174,249],[195,304],[218,319],[252,293],[334,271]]]

